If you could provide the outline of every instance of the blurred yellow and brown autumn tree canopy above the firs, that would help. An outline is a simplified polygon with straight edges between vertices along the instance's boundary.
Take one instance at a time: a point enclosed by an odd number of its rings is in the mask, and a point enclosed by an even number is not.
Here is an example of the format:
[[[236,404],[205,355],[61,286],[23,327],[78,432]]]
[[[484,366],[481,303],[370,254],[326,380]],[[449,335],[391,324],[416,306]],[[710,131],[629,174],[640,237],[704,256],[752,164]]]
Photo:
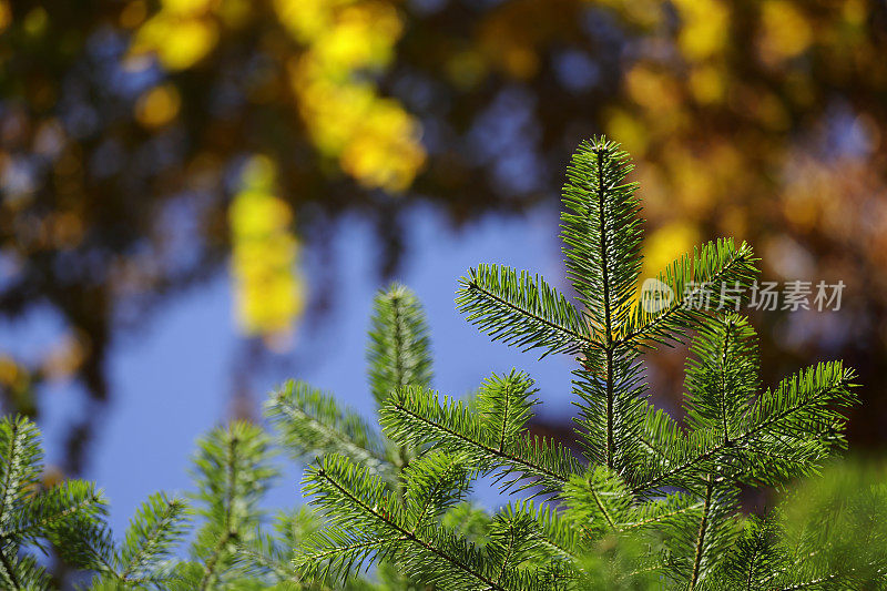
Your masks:
[[[390,274],[410,203],[457,224],[553,205],[603,131],[638,160],[648,272],[726,234],[767,277],[847,284],[840,313],[774,316],[764,369],[843,356],[873,441],[885,55],[883,0],[0,0],[0,313],[68,327],[0,357],[4,404],[35,414],[59,376],[102,404],[115,335],[228,261],[238,326],[273,345],[337,215],[375,221]],[[680,383],[669,359],[652,377]]]

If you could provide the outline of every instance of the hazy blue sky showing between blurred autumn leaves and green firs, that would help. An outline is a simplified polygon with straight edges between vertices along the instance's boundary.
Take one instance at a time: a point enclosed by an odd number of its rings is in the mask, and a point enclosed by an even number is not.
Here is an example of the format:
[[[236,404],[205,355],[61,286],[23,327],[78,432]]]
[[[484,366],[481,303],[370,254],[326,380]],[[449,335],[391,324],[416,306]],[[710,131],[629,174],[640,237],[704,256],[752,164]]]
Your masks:
[[[569,359],[540,361],[533,354],[491,343],[466,323],[453,305],[458,277],[477,263],[527,268],[561,284],[557,211],[548,207],[520,217],[490,216],[452,231],[436,211],[419,206],[405,227],[409,235],[398,279],[412,287],[425,304],[436,361],[435,387],[462,395],[491,371],[516,367],[537,380],[543,400],[541,414],[568,416]],[[364,353],[373,295],[380,287],[378,246],[370,225],[356,216],[338,223],[334,240],[339,262],[336,305],[310,329],[299,330],[293,350],[253,383],[258,396],[287,378],[304,379],[373,417]],[[310,288],[310,277],[308,283]],[[12,350],[39,347],[57,329],[50,315],[41,315],[4,332],[0,346]],[[191,490],[188,458],[195,439],[227,417],[232,363],[239,345],[224,274],[167,300],[143,328],[119,338],[108,366],[113,398],[100,421],[91,466],[84,475],[104,489],[118,536],[151,492]],[[40,426],[50,462],[61,457],[61,426],[71,414],[82,411],[80,400],[82,393],[71,386],[52,386],[42,397]],[[278,460],[284,475],[267,499],[272,509],[298,503],[300,498],[299,468],[285,457]],[[483,487],[477,495],[488,508],[499,502],[498,496]]]

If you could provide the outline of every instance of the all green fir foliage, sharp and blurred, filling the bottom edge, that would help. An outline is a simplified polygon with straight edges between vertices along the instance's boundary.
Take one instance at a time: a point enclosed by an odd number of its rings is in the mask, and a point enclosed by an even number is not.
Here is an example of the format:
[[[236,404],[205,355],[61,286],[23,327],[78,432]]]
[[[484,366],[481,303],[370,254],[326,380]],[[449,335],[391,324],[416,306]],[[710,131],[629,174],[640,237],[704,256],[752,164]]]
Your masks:
[[[424,313],[394,285],[376,298],[367,354],[381,432],[287,383],[267,404],[276,439],[247,422],[212,430],[194,458],[194,509],[155,495],[122,540],[92,485],[41,487],[32,424],[0,422],[3,588],[49,587],[37,554],[52,546],[92,573],[92,590],[887,589],[883,473],[830,468],[763,517],[740,512],[742,487],[785,487],[844,447],[853,373],[823,363],[762,390],[748,320],[693,305],[711,285],[748,286],[745,244],[675,261],[659,275],[670,300],[639,296],[630,171],[604,139],[583,143],[568,170],[561,231],[578,305],[497,265],[470,269],[457,295],[493,339],[575,359],[581,452],[529,432],[539,400],[526,373],[493,374],[467,400],[432,390]],[[684,339],[679,424],[649,400],[642,356]],[[312,509],[269,519],[277,447],[309,462]],[[486,475],[523,498],[477,508],[471,486]],[[192,523],[183,559],[175,548]]]

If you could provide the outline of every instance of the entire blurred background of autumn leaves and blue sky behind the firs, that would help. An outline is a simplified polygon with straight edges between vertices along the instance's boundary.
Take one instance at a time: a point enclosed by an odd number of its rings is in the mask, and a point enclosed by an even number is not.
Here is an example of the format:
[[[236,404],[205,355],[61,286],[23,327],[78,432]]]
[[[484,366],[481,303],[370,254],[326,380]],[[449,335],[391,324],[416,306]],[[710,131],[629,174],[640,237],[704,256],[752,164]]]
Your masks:
[[[886,57],[884,0],[0,0],[3,410],[119,526],[285,378],[369,415],[370,300],[399,278],[437,387],[527,369],[569,440],[569,359],[488,343],[452,294],[478,262],[569,289],[559,187],[606,133],[645,276],[731,235],[764,279],[845,283],[837,312],[753,314],[763,374],[844,358],[850,445],[884,448]],[[649,376],[679,414],[684,353]]]

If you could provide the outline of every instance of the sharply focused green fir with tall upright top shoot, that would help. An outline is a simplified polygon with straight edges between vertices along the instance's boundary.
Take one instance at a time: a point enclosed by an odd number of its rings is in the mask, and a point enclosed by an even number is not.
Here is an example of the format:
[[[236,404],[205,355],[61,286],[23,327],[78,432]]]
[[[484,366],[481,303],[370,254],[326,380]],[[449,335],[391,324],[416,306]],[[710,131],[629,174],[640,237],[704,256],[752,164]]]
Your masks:
[[[843,446],[852,370],[819,364],[761,390],[747,319],[693,305],[711,286],[750,287],[756,259],[746,244],[713,242],[671,264],[657,277],[670,302],[638,297],[642,221],[630,172],[628,154],[605,139],[583,143],[568,169],[561,236],[578,306],[538,275],[498,265],[470,269],[457,295],[468,320],[493,339],[577,359],[582,455],[529,434],[537,400],[526,374],[493,375],[469,403],[386,379],[387,391],[376,393],[386,445],[417,459],[392,490],[392,472],[377,468],[384,463],[338,445],[322,449],[305,491],[327,524],[297,551],[300,572],[341,581],[389,561],[439,589],[853,582],[846,572],[807,569],[797,559],[806,542],[791,550],[773,542],[776,518],[744,521],[737,506],[740,487],[815,473]],[[679,425],[650,403],[641,359],[690,335]],[[373,360],[398,367],[405,358],[414,356],[395,346]],[[507,506],[472,540],[446,514],[465,510],[455,508],[485,473],[542,497]],[[873,562],[884,560],[875,554]]]

